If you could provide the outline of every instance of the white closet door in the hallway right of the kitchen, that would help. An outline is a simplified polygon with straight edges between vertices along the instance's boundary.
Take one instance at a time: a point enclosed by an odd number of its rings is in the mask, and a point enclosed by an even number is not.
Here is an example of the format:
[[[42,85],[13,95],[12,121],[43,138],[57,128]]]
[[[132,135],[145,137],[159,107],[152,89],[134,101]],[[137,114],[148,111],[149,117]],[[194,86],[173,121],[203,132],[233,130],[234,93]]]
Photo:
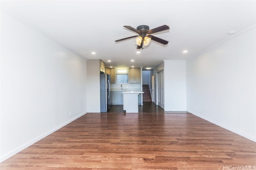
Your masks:
[[[158,81],[157,81],[158,106],[164,109],[164,70],[158,72],[157,76],[158,76]]]

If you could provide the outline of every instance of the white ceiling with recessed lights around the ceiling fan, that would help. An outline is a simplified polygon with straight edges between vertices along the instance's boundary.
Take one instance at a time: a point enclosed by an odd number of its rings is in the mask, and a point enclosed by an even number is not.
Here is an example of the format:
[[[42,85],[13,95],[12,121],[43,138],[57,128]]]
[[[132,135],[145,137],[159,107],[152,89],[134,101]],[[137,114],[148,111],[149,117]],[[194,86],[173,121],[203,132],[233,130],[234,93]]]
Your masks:
[[[78,55],[114,67],[154,68],[188,59],[256,23],[255,0],[8,0],[1,8]],[[135,38],[116,43],[136,35],[124,25],[168,25],[170,30],[153,35],[169,43],[152,41],[143,50],[136,49]]]

